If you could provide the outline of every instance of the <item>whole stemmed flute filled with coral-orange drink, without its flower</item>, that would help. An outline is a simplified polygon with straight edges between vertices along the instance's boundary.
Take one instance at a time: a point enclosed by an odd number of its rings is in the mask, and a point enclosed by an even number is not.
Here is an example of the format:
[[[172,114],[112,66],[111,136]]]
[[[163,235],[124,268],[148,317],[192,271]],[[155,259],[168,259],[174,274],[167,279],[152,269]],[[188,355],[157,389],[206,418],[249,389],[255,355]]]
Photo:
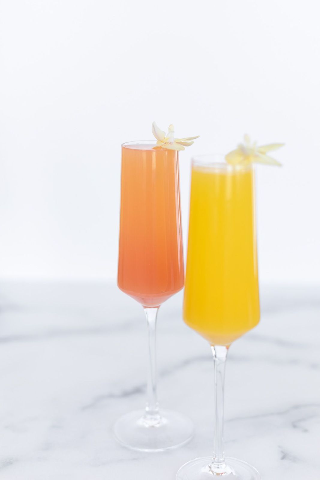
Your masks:
[[[159,306],[184,284],[178,151],[152,141],[122,145],[118,286],[142,304],[148,324],[147,403],[115,424],[121,444],[166,450],[193,434],[185,416],[159,410],[155,328]]]

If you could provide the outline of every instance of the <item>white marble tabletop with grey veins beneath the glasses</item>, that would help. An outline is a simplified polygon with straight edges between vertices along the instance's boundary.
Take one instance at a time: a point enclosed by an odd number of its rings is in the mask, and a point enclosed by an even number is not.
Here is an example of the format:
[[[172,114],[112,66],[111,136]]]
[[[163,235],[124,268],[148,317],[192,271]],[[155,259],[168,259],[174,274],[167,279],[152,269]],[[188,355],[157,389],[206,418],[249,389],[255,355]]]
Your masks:
[[[158,318],[159,399],[195,423],[190,444],[158,454],[113,438],[145,397],[142,308],[116,286],[0,284],[0,479],[174,480],[210,455],[211,352],[181,320]],[[263,480],[320,479],[320,288],[261,288],[260,325],[230,348],[225,451]]]

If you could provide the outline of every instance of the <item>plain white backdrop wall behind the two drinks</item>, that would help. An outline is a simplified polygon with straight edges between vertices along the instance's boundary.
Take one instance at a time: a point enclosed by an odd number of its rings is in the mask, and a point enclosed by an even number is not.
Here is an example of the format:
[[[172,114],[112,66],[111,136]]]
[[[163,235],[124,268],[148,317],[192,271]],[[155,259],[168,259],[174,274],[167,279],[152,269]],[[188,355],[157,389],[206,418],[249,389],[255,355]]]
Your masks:
[[[0,0],[0,276],[115,279],[120,144],[178,137],[190,157],[245,132],[259,167],[264,282],[320,281],[320,36],[314,0]]]

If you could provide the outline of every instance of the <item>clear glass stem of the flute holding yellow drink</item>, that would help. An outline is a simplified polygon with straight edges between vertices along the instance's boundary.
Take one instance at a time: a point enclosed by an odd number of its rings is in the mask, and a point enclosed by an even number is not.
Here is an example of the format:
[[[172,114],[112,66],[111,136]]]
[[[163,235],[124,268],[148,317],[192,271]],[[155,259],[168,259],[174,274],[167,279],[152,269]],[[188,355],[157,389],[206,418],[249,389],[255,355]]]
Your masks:
[[[221,475],[226,468],[224,452],[224,389],[225,389],[225,360],[228,347],[223,345],[211,346],[214,364],[214,437],[213,456],[210,468],[213,473]]]

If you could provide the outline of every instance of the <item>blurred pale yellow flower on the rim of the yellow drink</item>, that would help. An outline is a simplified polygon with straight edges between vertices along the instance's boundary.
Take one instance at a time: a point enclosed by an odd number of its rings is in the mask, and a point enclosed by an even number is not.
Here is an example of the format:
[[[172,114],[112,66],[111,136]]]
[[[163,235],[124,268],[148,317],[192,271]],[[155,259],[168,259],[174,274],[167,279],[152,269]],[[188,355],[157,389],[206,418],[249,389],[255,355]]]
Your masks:
[[[284,144],[270,144],[257,146],[257,143],[250,142],[249,135],[244,136],[244,144],[239,144],[237,150],[232,150],[225,156],[225,160],[231,165],[248,165],[249,163],[264,163],[267,165],[278,165],[281,163],[266,155],[267,152],[277,150]]]

